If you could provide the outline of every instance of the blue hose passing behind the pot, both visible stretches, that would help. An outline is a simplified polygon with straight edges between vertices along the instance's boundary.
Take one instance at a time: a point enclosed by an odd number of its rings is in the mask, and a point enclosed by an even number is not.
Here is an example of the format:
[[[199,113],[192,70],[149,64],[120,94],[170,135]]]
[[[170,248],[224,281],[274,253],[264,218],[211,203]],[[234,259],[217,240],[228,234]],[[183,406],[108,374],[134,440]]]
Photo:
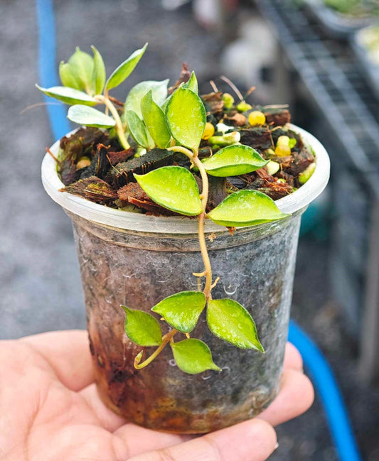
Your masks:
[[[51,87],[58,85],[58,76],[55,70],[53,1],[36,0],[36,2],[39,30],[39,75],[41,85]],[[51,101],[48,97],[46,100]],[[54,139],[60,139],[70,131],[64,107],[61,104],[48,105],[47,109]],[[293,320],[289,325],[289,341],[299,349],[304,359],[304,365],[319,392],[340,460],[361,461],[346,407],[331,367],[314,342]]]

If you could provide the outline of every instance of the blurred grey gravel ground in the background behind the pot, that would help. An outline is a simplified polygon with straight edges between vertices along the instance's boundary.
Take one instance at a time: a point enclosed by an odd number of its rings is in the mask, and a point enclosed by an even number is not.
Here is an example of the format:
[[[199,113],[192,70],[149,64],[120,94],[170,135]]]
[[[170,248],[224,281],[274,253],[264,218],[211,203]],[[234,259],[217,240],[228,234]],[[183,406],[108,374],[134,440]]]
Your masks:
[[[128,82],[176,78],[183,60],[199,79],[218,74],[220,40],[205,33],[189,9],[167,12],[157,0],[55,1],[59,59],[93,43],[108,69],[120,56],[149,41],[149,52]],[[70,219],[43,191],[40,165],[52,143],[44,107],[34,90],[37,29],[33,2],[3,0],[0,42],[0,338],[46,330],[85,327],[83,298]],[[78,11],[80,13],[78,13]],[[209,69],[212,72],[209,72]],[[117,94],[122,97],[122,93]],[[27,151],[26,151],[27,150]],[[28,156],[28,168],[23,163]],[[378,390],[363,386],[356,374],[356,350],[343,330],[328,282],[328,244],[313,237],[299,246],[294,285],[294,318],[321,345],[340,381],[365,460],[379,460]],[[310,264],[311,261],[311,264]],[[376,408],[376,411],[374,411]],[[334,461],[319,401],[304,416],[277,428],[274,461]]]

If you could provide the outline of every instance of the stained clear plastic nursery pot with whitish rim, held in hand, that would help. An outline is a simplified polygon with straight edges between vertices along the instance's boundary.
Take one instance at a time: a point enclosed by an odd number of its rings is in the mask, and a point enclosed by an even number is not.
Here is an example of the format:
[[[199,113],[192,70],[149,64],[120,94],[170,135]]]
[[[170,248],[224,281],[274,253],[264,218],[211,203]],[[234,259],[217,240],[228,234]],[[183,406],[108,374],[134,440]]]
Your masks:
[[[73,220],[97,388],[105,404],[129,421],[157,430],[205,433],[256,416],[277,395],[301,214],[329,179],[324,147],[306,131],[292,128],[316,155],[308,182],[277,200],[279,209],[292,216],[239,228],[233,236],[210,220],[205,224],[213,274],[220,276],[213,296],[243,303],[255,319],[265,354],[219,340],[203,316],[193,337],[210,346],[222,371],[198,375],[178,369],[169,347],[148,367],[134,369],[142,347],[125,335],[119,307],[151,312],[166,296],[197,289],[192,272],[203,271],[197,220],[114,210],[58,192],[63,183],[55,162],[48,155],[43,159],[43,185]],[[51,148],[57,150],[58,142]]]

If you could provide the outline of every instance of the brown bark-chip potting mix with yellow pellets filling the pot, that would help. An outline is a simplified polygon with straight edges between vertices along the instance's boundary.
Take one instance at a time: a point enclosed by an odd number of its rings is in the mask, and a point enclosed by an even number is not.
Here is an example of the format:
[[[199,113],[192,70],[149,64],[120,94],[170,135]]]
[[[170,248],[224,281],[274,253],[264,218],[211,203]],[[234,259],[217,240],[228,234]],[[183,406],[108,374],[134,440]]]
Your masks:
[[[186,82],[188,75],[191,75],[188,65],[183,64],[176,87]],[[175,87],[170,90],[174,91]],[[201,98],[207,113],[198,154],[201,160],[217,156],[223,148],[241,141],[242,145],[253,149],[260,161],[269,162],[252,173],[228,178],[211,177],[207,211],[213,210],[237,190],[258,190],[272,200],[278,200],[301,188],[306,182],[306,171],[315,166],[315,158],[311,147],[290,129],[291,114],[287,108],[252,106],[243,102],[247,109],[238,110],[241,104],[238,100],[226,107],[225,93],[221,91],[202,94]],[[256,121],[254,114],[262,120]],[[209,130],[212,132],[205,136]],[[227,141],[228,136],[234,138],[231,143]],[[202,189],[201,175],[191,169],[191,163],[183,153],[155,147],[147,152],[144,149],[140,155],[138,148],[141,146],[132,136],[128,141],[131,147],[124,150],[112,130],[97,128],[80,128],[74,134],[64,136],[60,139],[58,155],[55,157],[49,151],[58,163],[58,174],[65,185],[60,191],[107,207],[171,216],[176,213],[151,200],[137,184],[134,173],[145,174],[164,166],[181,166],[191,171]],[[311,173],[307,175],[310,177]]]

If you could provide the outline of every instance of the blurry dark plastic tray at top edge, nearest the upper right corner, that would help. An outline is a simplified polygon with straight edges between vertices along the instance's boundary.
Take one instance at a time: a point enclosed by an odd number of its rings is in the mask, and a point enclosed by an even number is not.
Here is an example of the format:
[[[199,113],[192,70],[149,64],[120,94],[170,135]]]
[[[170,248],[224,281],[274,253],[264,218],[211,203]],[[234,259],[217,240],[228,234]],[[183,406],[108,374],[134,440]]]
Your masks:
[[[337,13],[322,0],[305,0],[305,4],[333,38],[348,38],[351,33],[374,21],[374,18],[353,18]]]

